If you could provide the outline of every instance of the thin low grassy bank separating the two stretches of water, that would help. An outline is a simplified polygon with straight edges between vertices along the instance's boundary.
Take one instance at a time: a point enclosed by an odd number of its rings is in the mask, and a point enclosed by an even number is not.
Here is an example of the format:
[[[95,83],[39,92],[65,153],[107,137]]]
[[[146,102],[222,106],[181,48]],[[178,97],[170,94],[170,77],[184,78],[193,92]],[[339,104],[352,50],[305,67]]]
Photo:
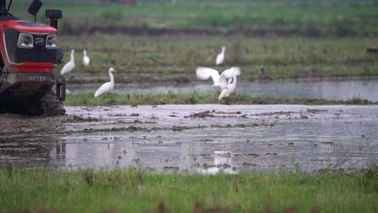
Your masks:
[[[274,97],[251,97],[246,94],[237,94],[225,100],[218,101],[215,93],[158,93],[158,94],[132,94],[121,95],[108,93],[98,98],[93,94],[67,95],[67,106],[103,106],[103,105],[155,105],[155,104],[378,104],[367,102],[363,99],[350,99],[347,101],[328,101],[325,99],[306,99],[306,98],[274,98]]]

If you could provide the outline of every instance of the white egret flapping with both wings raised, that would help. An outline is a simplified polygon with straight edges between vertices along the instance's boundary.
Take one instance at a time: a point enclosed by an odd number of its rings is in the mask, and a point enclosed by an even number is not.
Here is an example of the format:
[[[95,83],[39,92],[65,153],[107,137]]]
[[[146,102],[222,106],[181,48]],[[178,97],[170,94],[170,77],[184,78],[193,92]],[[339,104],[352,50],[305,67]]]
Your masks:
[[[198,67],[196,73],[197,78],[201,80],[207,80],[209,78],[213,79],[214,84],[212,86],[217,87],[220,92],[223,92],[225,88],[230,86],[229,81],[234,78],[236,79],[236,77],[239,76],[241,72],[239,67],[231,67],[230,69],[226,69],[221,75],[219,75],[218,71],[216,71],[215,69]]]

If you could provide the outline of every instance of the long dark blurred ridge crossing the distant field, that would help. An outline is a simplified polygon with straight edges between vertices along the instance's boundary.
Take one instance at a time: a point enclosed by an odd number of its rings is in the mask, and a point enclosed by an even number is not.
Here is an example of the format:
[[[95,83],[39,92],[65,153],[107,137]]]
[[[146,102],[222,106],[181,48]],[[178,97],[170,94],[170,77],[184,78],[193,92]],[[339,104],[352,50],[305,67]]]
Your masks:
[[[234,27],[229,29],[217,27],[188,27],[184,29],[172,29],[167,27],[148,27],[141,26],[124,26],[124,25],[79,25],[78,27],[71,27],[70,23],[63,25],[62,34],[81,35],[81,34],[127,34],[132,36],[166,36],[166,35],[193,35],[193,36],[377,36],[374,34],[367,34],[357,32],[352,28],[343,28],[342,30],[328,30],[325,31],[317,27],[305,27],[294,29],[279,29],[279,28],[258,28],[258,27]]]

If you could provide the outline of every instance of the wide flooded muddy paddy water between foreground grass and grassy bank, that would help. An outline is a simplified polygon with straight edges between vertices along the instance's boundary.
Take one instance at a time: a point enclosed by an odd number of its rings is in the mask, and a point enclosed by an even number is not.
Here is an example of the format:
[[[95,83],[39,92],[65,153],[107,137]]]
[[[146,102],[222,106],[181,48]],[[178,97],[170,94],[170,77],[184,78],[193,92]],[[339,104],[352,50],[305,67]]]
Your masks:
[[[0,165],[235,173],[356,169],[378,163],[378,107],[66,107],[0,115]]]

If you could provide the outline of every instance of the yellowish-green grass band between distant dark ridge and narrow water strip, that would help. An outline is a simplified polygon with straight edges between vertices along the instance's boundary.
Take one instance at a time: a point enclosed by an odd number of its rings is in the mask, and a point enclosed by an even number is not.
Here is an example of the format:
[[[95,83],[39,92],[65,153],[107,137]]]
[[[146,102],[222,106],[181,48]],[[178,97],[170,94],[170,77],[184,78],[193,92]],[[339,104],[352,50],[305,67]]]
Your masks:
[[[102,42],[98,42],[102,41]],[[244,36],[61,36],[59,46],[68,61],[77,50],[74,70],[77,83],[91,83],[117,69],[118,83],[151,81],[195,81],[198,66],[214,67],[215,58],[226,46],[222,71],[241,67],[241,79],[255,79],[264,65],[273,79],[378,76],[378,55],[366,52],[377,43],[373,38],[309,39],[301,37],[249,38]],[[82,67],[81,50],[87,49],[90,67]],[[57,67],[59,71],[62,65]],[[90,79],[83,75],[92,76]],[[88,82],[89,81],[89,82]]]

